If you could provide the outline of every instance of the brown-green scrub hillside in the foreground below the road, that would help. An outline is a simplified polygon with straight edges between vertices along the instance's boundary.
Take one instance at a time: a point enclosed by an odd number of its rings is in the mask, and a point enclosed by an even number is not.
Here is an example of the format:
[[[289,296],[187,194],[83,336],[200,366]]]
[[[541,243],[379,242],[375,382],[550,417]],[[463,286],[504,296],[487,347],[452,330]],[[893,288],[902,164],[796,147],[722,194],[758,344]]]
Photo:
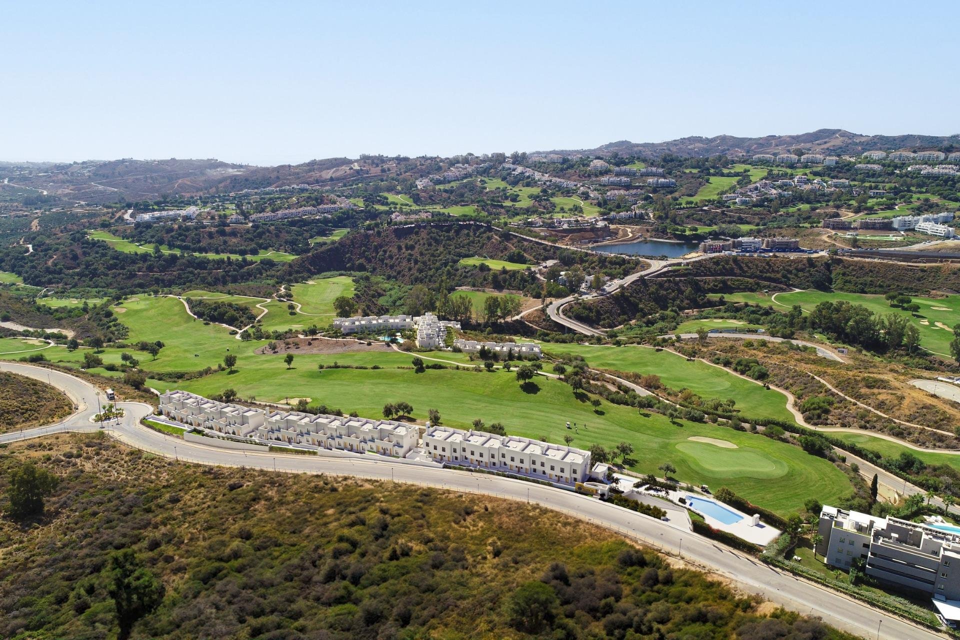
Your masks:
[[[60,482],[0,520],[3,637],[113,636],[121,561],[155,596],[132,638],[851,637],[527,505],[69,435],[4,449],[0,490],[28,459]]]

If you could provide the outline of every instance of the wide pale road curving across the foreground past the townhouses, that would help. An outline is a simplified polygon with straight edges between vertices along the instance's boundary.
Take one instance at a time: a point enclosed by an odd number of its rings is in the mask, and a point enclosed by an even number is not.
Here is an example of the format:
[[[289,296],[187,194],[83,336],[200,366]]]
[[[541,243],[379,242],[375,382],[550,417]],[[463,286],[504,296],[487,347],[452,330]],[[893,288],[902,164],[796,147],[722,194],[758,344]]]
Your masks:
[[[56,424],[0,435],[0,443],[61,432],[90,432],[99,429],[98,424],[90,421],[97,411],[99,391],[89,383],[61,371],[20,363],[0,362],[0,369],[49,381],[66,393],[78,407],[74,415]],[[722,576],[748,592],[757,593],[795,611],[820,616],[828,624],[858,635],[889,640],[944,637],[932,630],[919,628],[898,617],[877,611],[867,604],[848,599],[842,594],[781,572],[755,557],[733,551],[696,533],[682,532],[660,520],[557,487],[412,464],[391,458],[297,456],[220,449],[173,438],[140,425],[140,418],[152,411],[146,404],[125,402],[119,406],[125,410],[126,415],[105,425],[106,432],[129,446],[159,456],[216,466],[252,467],[290,473],[324,473],[404,482],[526,501],[621,533],[636,542],[655,547],[664,554],[682,557],[691,565]]]

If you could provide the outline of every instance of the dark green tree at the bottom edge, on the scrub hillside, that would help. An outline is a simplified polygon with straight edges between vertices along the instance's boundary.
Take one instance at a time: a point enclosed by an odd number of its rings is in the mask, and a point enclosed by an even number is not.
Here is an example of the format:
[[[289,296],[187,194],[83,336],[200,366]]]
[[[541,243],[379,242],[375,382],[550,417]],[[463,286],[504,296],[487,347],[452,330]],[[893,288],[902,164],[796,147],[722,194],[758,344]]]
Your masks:
[[[161,581],[144,567],[132,549],[110,555],[107,568],[107,592],[113,600],[120,631],[117,640],[130,637],[133,625],[156,609],[166,594]]]

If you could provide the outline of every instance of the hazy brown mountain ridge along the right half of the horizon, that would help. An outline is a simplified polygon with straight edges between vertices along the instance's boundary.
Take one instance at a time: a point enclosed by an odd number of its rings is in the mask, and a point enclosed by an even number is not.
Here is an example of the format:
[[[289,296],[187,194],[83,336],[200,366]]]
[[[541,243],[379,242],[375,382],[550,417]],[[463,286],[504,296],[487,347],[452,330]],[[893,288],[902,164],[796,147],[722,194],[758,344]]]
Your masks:
[[[667,142],[630,142],[620,140],[596,149],[554,151],[555,154],[600,154],[650,155],[677,154],[686,156],[709,156],[743,152],[744,154],[770,154],[803,149],[805,153],[863,154],[868,151],[892,151],[899,149],[935,148],[946,151],[960,148],[960,133],[953,135],[864,135],[842,129],[818,129],[794,135],[764,135],[760,138],[741,138],[735,135],[715,135],[705,138],[698,135],[669,140]]]

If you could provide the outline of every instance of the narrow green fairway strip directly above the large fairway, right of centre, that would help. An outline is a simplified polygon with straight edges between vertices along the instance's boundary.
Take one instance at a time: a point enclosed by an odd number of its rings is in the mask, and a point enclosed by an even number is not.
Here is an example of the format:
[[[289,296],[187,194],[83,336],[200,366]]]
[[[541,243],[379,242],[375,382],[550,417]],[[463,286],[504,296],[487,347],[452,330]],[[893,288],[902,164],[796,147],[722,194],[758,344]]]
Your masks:
[[[786,409],[786,396],[780,391],[763,389],[749,380],[703,362],[687,360],[671,351],[643,346],[600,346],[588,344],[541,344],[548,354],[569,353],[583,356],[591,367],[655,373],[671,389],[689,389],[704,399],[736,400],[736,409],[746,417],[776,417],[793,421]]]

